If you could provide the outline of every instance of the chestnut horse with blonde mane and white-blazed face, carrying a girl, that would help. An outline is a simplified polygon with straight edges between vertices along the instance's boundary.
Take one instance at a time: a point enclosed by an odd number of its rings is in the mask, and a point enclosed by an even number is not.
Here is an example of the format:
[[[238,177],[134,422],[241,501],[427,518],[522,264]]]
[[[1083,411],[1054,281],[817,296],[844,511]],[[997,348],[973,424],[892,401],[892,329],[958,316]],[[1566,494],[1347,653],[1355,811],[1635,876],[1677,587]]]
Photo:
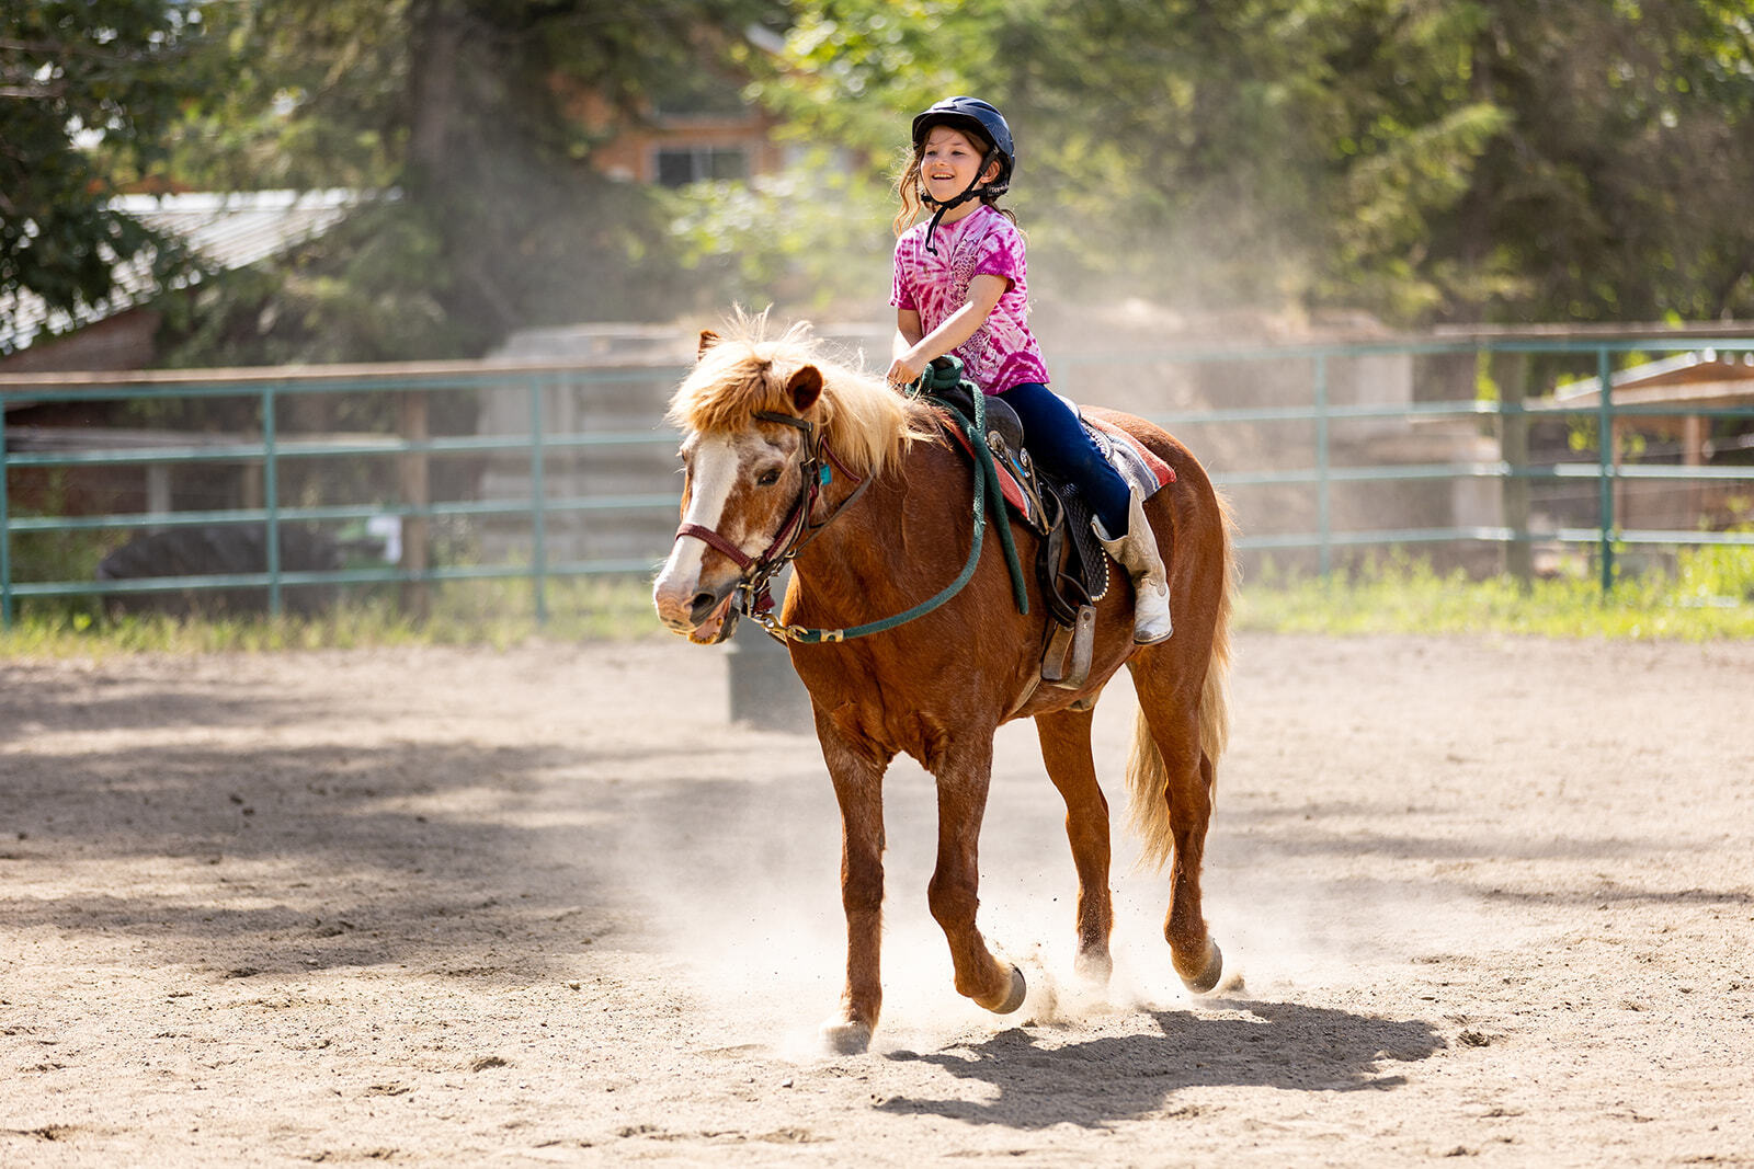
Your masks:
[[[1112,573],[1082,689],[1040,685],[1047,605],[1031,580],[1030,613],[1019,612],[998,540],[986,542],[966,587],[942,605],[858,636],[858,626],[882,626],[940,594],[970,557],[970,459],[944,438],[937,408],[828,359],[807,326],[772,337],[756,317],[733,331],[702,333],[698,363],[670,407],[684,431],[684,522],[652,601],[675,633],[723,641],[737,620],[733,605],[751,594],[738,585],[765,582],[777,561],[795,564],[777,629],[791,634],[842,824],[847,973],[840,1010],[824,1027],[830,1045],[865,1050],[882,1004],[882,776],[896,754],[937,780],[928,899],[951,946],[956,990],[989,1011],[1023,1004],[1023,973],[995,959],[975,927],[993,733],[1010,719],[1035,719],[1047,775],[1066,803],[1077,967],[1107,980],[1109,803],[1091,757],[1091,708],[1123,664],[1140,703],[1131,815],[1145,861],[1172,862],[1170,960],[1191,990],[1216,987],[1223,957],[1200,908],[1200,866],[1228,734],[1233,561],[1226,508],[1200,463],[1158,426],[1100,412],[1175,470],[1175,482],[1147,503],[1168,564],[1175,636],[1135,645],[1131,585]],[[1033,561],[1035,536],[1017,528],[1014,538],[1023,561]],[[837,631],[854,636],[837,640]]]

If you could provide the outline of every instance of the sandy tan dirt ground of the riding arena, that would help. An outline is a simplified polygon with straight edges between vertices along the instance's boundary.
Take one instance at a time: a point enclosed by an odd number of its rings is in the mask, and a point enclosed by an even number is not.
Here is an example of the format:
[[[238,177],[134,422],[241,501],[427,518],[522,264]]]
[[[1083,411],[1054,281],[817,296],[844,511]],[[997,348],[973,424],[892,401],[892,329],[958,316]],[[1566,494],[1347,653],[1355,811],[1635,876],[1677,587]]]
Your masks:
[[[816,741],[726,678],[682,641],[0,662],[0,1165],[1754,1165],[1754,645],[1240,638],[1207,890],[1244,983],[1198,1001],[1124,864],[1116,978],[1073,978],[1028,726],[982,922],[1031,994],[956,997],[902,761],[858,1057],[814,1038]]]

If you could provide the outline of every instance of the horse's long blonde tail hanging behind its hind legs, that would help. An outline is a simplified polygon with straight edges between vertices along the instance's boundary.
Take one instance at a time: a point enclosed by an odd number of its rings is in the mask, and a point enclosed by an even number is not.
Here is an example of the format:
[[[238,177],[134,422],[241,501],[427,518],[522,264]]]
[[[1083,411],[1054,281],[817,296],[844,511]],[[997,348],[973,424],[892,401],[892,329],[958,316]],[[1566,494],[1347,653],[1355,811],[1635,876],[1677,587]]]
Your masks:
[[[1230,608],[1237,589],[1237,559],[1231,549],[1230,510],[1221,507],[1221,540],[1224,547],[1224,584],[1217,599],[1217,620],[1212,624],[1212,650],[1207,655],[1205,682],[1200,687],[1200,769],[1205,775],[1207,796],[1217,794],[1217,761],[1230,745]],[[1165,792],[1170,785],[1170,768],[1158,748],[1145,710],[1140,706],[1133,722],[1133,752],[1126,762],[1128,806],[1133,831],[1140,838],[1140,868],[1161,869],[1175,855],[1175,832],[1170,827],[1170,803]]]

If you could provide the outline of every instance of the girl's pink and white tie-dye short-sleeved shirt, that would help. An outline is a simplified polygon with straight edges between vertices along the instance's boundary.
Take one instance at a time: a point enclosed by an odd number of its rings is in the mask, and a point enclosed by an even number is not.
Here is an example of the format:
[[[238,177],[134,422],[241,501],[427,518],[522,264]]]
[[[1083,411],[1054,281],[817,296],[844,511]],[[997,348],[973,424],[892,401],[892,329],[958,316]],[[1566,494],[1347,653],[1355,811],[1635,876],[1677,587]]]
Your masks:
[[[975,335],[952,349],[963,375],[989,394],[1023,382],[1047,384],[1047,363],[1030,333],[1030,289],[1024,282],[1023,233],[986,203],[956,223],[938,224],[937,254],[926,251],[926,226],[914,224],[895,242],[895,287],[889,303],[919,314],[924,333],[968,303],[977,275],[1005,277],[1009,286]]]

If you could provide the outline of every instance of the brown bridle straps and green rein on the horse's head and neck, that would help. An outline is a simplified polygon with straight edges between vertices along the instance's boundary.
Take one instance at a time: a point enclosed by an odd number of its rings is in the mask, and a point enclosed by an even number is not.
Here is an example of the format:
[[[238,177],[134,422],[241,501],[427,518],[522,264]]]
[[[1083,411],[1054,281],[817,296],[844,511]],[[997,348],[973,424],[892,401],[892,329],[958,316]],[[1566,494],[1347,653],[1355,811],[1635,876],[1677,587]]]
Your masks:
[[[961,363],[954,358],[940,358],[933,361],[924,373],[921,373],[919,380],[909,386],[907,393],[912,398],[923,398],[933,405],[947,407],[949,403],[937,398],[931,391],[942,391],[956,386],[961,380]],[[772,638],[777,641],[796,641],[800,645],[821,645],[823,641],[849,641],[852,638],[863,638],[873,633],[895,629],[896,626],[914,620],[916,617],[924,617],[961,592],[963,585],[973,578],[975,566],[980,563],[980,545],[988,522],[988,501],[991,499],[993,514],[1000,521],[1000,542],[1005,547],[1005,563],[1010,570],[1012,594],[1016,596],[1017,610],[1028,613],[1030,601],[1023,584],[1023,566],[1017,561],[1017,549],[1010,540],[1010,524],[1003,522],[1005,503],[1000,494],[998,468],[993,464],[993,452],[988,450],[986,443],[986,394],[975,387],[972,421],[965,419],[956,410],[947,410],[947,414],[956,419],[958,428],[968,436],[970,447],[975,450],[973,543],[968,549],[968,563],[963,564],[963,571],[956,575],[956,580],[947,584],[935,596],[914,605],[909,610],[895,613],[893,617],[882,617],[881,620],[851,626],[847,629],[788,626],[774,617],[774,594],[770,592],[774,577],[777,577],[779,571],[789,564],[798,552],[802,552],[803,547],[816,538],[817,533],[833,522],[837,515],[847,510],[870,485],[868,480],[859,480],[840,466],[824,438],[816,433],[816,422],[793,414],[775,414],[770,410],[756,412],[756,417],[765,422],[781,422],[803,431],[803,456],[800,459],[803,485],[798,492],[798,503],[793,507],[791,515],[786,517],[786,522],[781,524],[779,533],[775,533],[768,549],[761,556],[751,557],[719,533],[702,528],[700,524],[682,524],[675,535],[677,538],[695,536],[696,540],[703,540],[709,547],[717,549],[728,556],[731,563],[744,570],[744,578],[737,585],[738,608],[759,624]],[[851,496],[840,501],[828,519],[812,526],[809,517],[816,508],[823,485],[831,480],[831,466],[840,468],[840,473],[847,475],[852,482],[858,482],[858,487]]]

